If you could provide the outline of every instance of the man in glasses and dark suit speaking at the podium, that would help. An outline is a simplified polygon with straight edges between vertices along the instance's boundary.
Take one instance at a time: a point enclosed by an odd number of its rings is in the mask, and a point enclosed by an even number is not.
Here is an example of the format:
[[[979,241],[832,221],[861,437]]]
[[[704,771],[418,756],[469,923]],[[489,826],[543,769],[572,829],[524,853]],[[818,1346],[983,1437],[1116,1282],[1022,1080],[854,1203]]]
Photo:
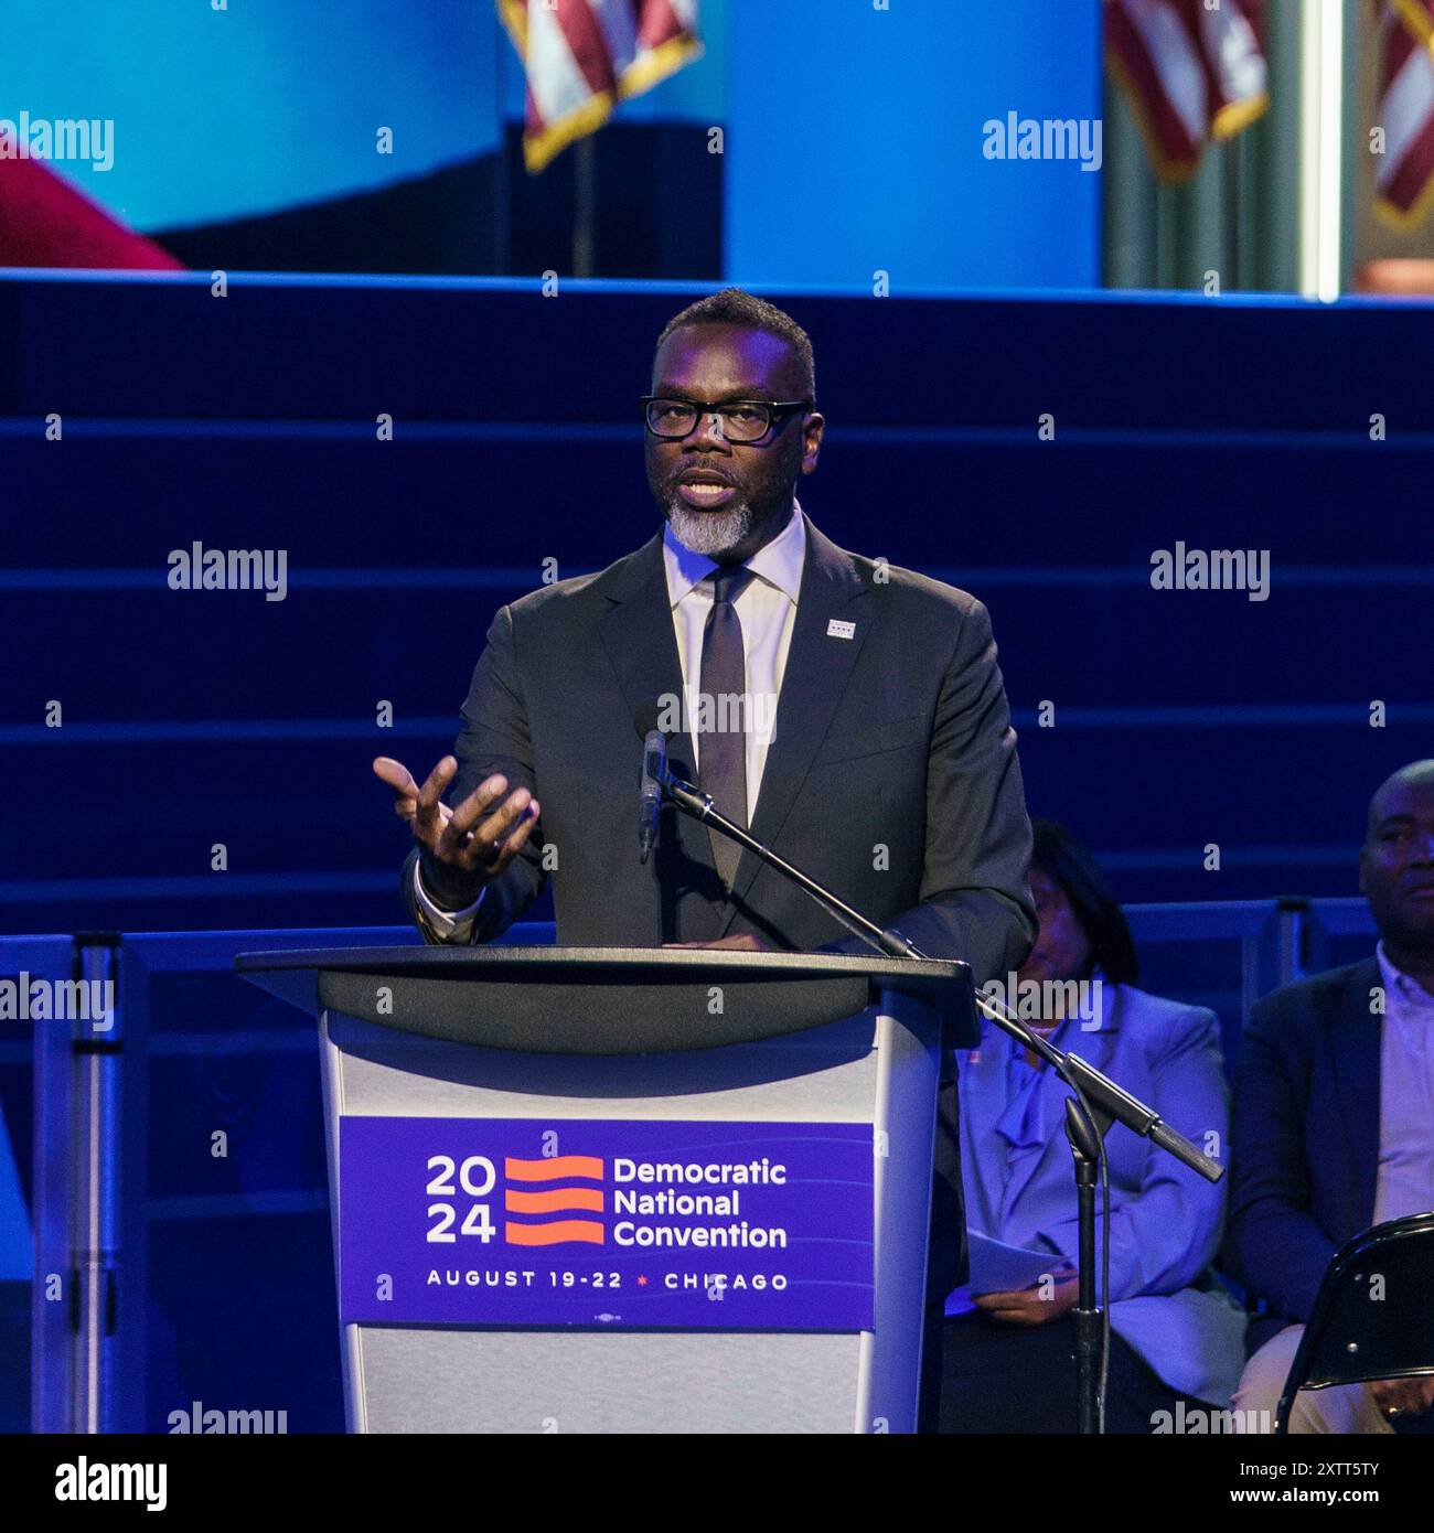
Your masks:
[[[429,941],[500,937],[552,877],[561,943],[867,952],[670,809],[638,862],[641,736],[670,725],[673,771],[850,904],[965,958],[977,984],[1020,966],[1031,826],[991,621],[807,518],[794,491],[817,464],[811,342],[770,304],[727,288],[667,325],[643,402],[666,526],[498,612],[456,753],[422,788],[374,762],[413,826],[403,892]],[[962,1275],[952,1128],[937,1326]]]

